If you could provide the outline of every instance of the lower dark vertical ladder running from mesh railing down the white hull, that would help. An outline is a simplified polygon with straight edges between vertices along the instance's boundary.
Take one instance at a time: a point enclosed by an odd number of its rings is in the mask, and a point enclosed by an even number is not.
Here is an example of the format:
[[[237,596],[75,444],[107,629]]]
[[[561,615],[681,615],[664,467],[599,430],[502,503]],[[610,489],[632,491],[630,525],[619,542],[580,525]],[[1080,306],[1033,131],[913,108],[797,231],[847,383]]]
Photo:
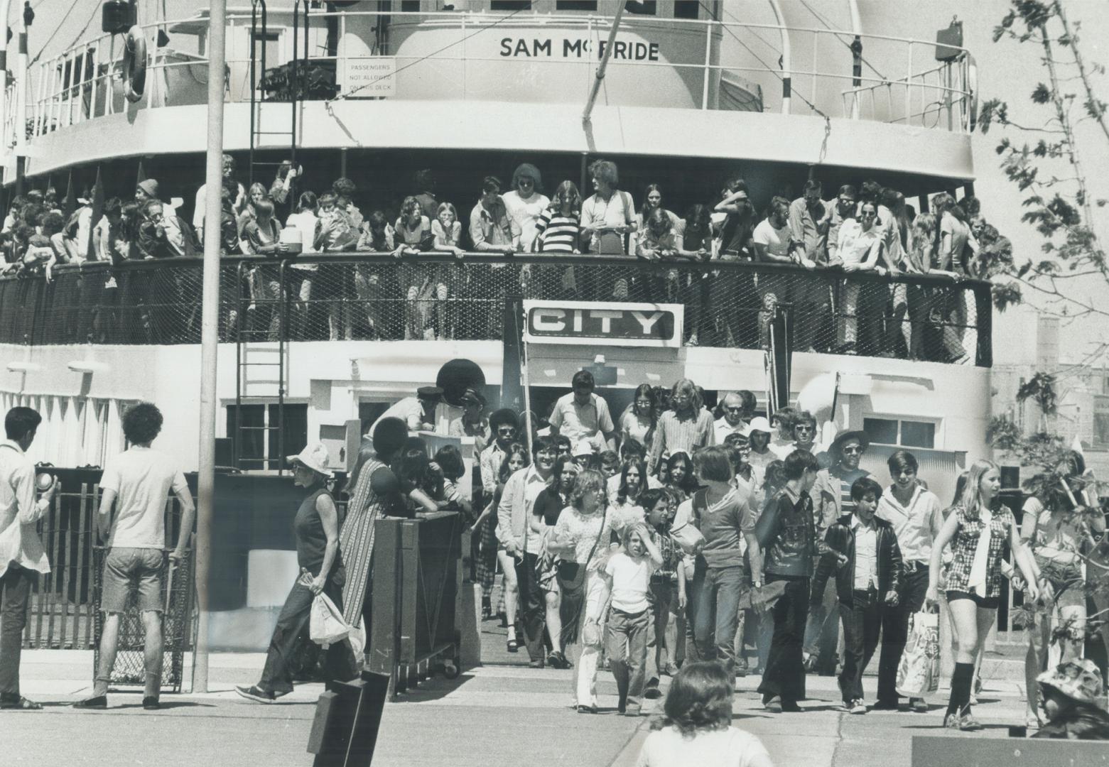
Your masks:
[[[248,280],[261,280],[257,269],[277,269],[279,285],[285,284],[285,260],[255,267],[240,262],[236,289],[238,290],[238,318],[235,323],[235,421],[232,429],[233,464],[241,470],[267,469],[276,460],[277,473],[284,473],[285,458],[285,395],[288,392],[288,365],[286,342],[288,328],[288,296],[279,290],[276,298],[258,300],[248,289]],[[253,310],[251,309],[253,305]],[[276,340],[271,339],[269,328],[276,316]],[[276,376],[276,377],[275,377]],[[276,400],[276,422],[269,412]],[[243,425],[243,407],[261,405],[262,426]],[[277,454],[269,454],[269,436],[277,434]],[[246,438],[261,433],[262,454],[258,459],[244,459],[243,446]],[[246,461],[246,463],[244,463]],[[255,462],[258,466],[253,466]]]

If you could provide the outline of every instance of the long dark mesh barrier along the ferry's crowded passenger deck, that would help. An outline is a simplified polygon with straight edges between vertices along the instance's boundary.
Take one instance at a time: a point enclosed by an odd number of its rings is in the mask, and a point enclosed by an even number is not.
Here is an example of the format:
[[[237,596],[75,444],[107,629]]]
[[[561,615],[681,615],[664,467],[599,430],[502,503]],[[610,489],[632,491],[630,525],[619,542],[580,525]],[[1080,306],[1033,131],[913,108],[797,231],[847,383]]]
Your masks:
[[[0,279],[0,341],[196,344],[201,263]],[[506,296],[676,303],[688,345],[762,348],[773,301],[797,351],[989,365],[989,285],[749,262],[421,254],[224,259],[220,339],[497,339]]]

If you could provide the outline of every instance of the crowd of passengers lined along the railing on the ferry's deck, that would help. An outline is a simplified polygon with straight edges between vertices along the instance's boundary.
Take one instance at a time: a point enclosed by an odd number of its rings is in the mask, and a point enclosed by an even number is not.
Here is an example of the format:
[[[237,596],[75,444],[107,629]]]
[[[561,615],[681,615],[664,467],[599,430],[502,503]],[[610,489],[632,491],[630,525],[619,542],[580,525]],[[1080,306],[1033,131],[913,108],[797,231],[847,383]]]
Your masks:
[[[437,197],[429,170],[414,174],[399,209],[367,213],[357,205],[358,185],[347,177],[318,193],[298,191],[302,168],[284,163],[268,186],[254,183],[247,190],[236,181],[230,155],[223,170],[224,255],[358,252],[398,259],[397,268],[359,266],[337,279],[303,264],[286,273],[284,285],[275,269],[252,272],[252,301],[292,295],[301,314],[308,301],[328,304],[332,339],[359,330],[366,337],[456,337],[451,299],[498,299],[518,285],[542,298],[684,304],[688,345],[765,346],[767,321],[775,305],[784,304],[793,308],[795,349],[957,361],[974,357],[966,328],[974,325],[975,304],[966,292],[853,277],[978,277],[979,254],[1007,242],[973,197],[957,203],[942,193],[929,212],[917,213],[904,194],[873,180],[843,185],[827,200],[812,178],[800,197],[775,194],[760,212],[746,182],[735,176],[713,198],[706,195],[679,215],[667,207],[659,184],[649,184],[637,203],[620,187],[611,161],[589,166],[589,196],[569,180],[548,196],[539,168],[522,163],[508,184],[494,175],[475,178],[476,203],[460,215],[452,202]],[[157,181],[145,178],[134,200],[105,201],[93,222],[89,194],[67,215],[52,190],[32,191],[16,197],[7,213],[3,270],[44,272],[49,279],[60,264],[196,257],[205,238],[206,195],[201,186],[187,221],[160,198]],[[289,213],[281,216],[282,208]],[[658,265],[602,269],[579,260],[482,273],[420,262],[427,253],[635,255]],[[732,269],[722,268],[724,262],[773,266]],[[375,308],[381,300],[403,303],[403,316],[385,320]],[[294,323],[294,336],[303,325]]]

